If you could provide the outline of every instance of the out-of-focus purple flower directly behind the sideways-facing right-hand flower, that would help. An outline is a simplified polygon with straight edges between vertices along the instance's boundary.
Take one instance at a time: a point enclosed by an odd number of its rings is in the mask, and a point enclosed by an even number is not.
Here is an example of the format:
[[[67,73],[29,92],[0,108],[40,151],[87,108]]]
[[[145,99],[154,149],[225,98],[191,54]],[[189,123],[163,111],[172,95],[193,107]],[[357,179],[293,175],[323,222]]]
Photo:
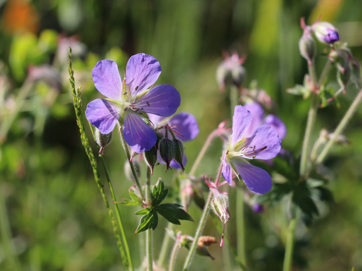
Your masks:
[[[282,140],[287,134],[287,128],[284,122],[273,114],[269,114],[264,118],[264,109],[258,103],[248,103],[245,107],[252,115],[252,120],[245,135],[251,134],[258,126],[266,124],[277,131],[279,138]]]

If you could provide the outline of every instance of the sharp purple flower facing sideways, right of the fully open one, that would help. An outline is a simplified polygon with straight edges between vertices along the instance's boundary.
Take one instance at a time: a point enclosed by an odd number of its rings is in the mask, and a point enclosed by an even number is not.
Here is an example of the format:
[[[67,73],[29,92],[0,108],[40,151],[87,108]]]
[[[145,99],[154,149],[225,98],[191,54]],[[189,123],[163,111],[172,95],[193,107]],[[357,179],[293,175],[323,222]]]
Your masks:
[[[281,148],[277,131],[269,125],[262,125],[246,134],[252,123],[252,114],[243,106],[235,107],[232,120],[232,134],[223,156],[222,175],[230,185],[232,173],[240,175],[252,192],[265,194],[271,189],[271,177],[264,169],[250,164],[248,159],[266,160],[277,156]]]

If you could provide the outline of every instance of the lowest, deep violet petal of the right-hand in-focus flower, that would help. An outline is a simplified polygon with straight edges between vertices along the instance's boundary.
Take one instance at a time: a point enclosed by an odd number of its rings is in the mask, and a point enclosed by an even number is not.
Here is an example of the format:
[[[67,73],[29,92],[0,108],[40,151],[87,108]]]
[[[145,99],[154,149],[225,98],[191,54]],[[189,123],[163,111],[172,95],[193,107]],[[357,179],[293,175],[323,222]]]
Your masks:
[[[249,162],[233,159],[233,166],[248,188],[257,194],[265,194],[271,189],[271,177],[264,169]]]

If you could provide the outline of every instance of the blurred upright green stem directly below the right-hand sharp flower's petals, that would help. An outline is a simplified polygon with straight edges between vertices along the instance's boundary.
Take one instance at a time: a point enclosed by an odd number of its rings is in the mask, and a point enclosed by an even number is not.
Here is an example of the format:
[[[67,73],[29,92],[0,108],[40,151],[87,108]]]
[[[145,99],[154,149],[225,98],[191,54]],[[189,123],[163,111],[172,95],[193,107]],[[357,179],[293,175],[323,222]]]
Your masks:
[[[237,225],[237,257],[241,264],[246,268],[246,251],[245,251],[245,221],[244,221],[244,189],[236,189],[236,225]]]

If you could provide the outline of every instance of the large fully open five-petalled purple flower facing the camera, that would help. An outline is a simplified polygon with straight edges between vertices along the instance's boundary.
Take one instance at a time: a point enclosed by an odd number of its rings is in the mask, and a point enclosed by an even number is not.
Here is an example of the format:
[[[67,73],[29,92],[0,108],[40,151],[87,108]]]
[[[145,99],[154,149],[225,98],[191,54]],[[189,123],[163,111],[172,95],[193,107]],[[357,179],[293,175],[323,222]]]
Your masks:
[[[180,94],[171,85],[149,89],[160,73],[160,63],[144,53],[130,57],[123,82],[114,61],[99,61],[92,71],[94,86],[107,98],[95,99],[88,104],[85,111],[87,120],[102,134],[108,134],[121,119],[127,144],[135,152],[150,150],[157,137],[144,122],[148,119],[146,113],[171,116],[181,101]]]

